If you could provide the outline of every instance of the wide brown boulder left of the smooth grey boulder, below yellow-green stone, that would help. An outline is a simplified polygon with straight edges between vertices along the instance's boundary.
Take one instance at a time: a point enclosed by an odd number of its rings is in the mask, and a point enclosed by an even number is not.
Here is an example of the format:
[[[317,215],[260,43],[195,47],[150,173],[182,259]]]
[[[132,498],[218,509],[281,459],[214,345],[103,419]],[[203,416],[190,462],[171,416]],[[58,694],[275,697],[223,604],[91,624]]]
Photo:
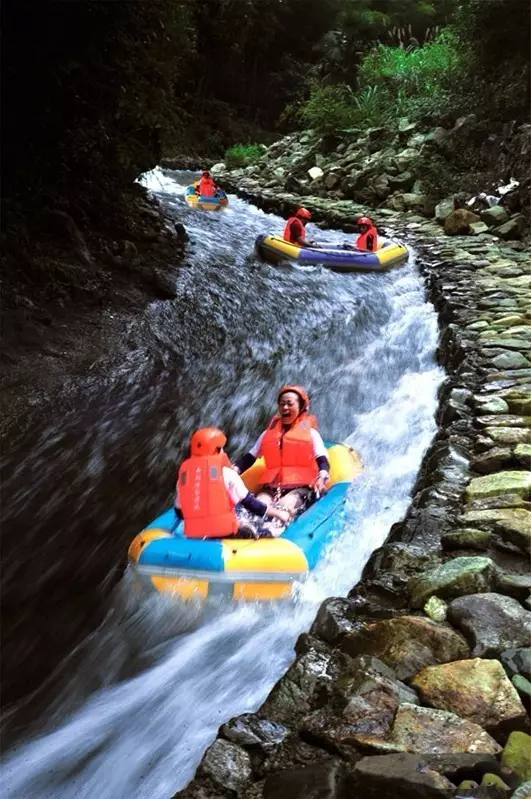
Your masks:
[[[360,623],[340,647],[351,657],[374,655],[405,680],[423,666],[468,657],[465,639],[450,627],[420,616]]]

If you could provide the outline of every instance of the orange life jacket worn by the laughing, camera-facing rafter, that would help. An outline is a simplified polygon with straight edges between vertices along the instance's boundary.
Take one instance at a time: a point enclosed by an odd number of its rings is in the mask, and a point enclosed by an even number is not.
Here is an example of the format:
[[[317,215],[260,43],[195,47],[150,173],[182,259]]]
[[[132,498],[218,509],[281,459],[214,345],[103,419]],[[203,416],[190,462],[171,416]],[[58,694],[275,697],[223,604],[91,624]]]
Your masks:
[[[264,485],[282,488],[313,486],[319,475],[310,430],[317,429],[315,416],[304,413],[285,430],[279,416],[274,416],[262,439],[265,469]]]

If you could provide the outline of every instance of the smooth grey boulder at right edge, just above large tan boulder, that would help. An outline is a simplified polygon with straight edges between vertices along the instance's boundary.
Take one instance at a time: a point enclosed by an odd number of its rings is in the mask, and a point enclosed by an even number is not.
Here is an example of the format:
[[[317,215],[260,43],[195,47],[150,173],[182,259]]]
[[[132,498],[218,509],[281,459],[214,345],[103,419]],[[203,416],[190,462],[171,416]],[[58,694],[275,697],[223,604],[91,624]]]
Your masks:
[[[496,657],[531,645],[531,613],[512,597],[472,594],[454,599],[448,620],[470,641],[475,657]]]

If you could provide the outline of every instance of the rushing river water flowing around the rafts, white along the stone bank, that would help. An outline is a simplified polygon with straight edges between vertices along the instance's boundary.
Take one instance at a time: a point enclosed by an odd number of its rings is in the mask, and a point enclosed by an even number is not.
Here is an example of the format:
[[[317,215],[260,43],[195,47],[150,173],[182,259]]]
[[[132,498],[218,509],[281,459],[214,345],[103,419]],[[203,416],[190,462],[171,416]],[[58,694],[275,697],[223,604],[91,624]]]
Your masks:
[[[86,488],[76,518],[90,506],[93,528],[125,549],[129,531],[168,500],[167,475],[189,432],[216,424],[229,452],[242,452],[284,382],[309,388],[324,436],[354,446],[365,471],[350,490],[343,533],[293,603],[203,609],[154,597],[138,605],[126,574],[104,622],[63,663],[38,732],[7,753],[0,777],[13,799],[169,799],[183,787],[218,726],[263,701],[318,603],[359,579],[405,513],[435,429],[437,325],[414,252],[387,274],[272,267],[252,244],[281,230],[281,219],[235,197],[222,213],[191,212],[189,173],[156,170],[146,180],[192,239],[179,296],[153,303],[130,331],[137,344],[119,389],[40,432],[19,467],[25,485],[49,491],[43,464],[61,453],[65,483],[75,474]],[[344,238],[312,225],[308,233]],[[77,456],[65,455],[76,436]],[[50,514],[63,509],[65,490],[59,482],[47,497]],[[82,534],[81,522],[75,530]],[[108,551],[102,544],[99,561]]]

